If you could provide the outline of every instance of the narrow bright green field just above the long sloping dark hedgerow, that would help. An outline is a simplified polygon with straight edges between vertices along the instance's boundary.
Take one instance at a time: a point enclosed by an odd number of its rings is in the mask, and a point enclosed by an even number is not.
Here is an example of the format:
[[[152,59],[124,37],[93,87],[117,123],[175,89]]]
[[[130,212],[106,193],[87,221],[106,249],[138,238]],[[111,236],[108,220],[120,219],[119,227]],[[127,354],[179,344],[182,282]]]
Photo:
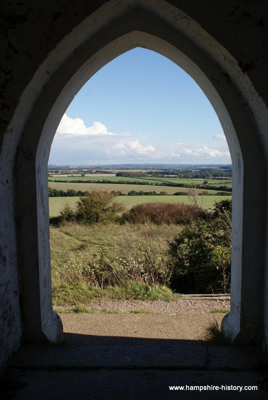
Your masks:
[[[72,180],[105,180],[110,182],[148,182],[151,184],[157,183],[181,183],[187,185],[202,184],[206,179],[180,179],[180,178],[154,178],[154,177],[126,177],[126,176],[58,176],[48,177],[48,181],[72,181]],[[224,185],[231,187],[231,180],[220,180],[220,179],[208,179],[207,184],[209,185]]]

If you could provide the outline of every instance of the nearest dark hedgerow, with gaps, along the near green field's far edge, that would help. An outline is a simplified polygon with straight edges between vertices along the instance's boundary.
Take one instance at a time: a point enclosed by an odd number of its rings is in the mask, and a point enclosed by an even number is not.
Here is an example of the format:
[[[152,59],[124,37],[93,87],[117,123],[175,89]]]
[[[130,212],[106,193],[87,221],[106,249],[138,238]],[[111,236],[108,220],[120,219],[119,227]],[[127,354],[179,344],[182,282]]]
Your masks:
[[[67,189],[66,191],[64,191],[48,187],[49,197],[77,197],[77,196],[83,197],[86,196],[87,193],[88,193],[87,191],[82,191],[82,190]],[[119,191],[112,190],[111,193],[114,194],[115,196],[168,196],[168,195],[187,196],[188,195],[186,191],[176,191],[173,194],[168,194],[166,191],[160,191],[160,193],[156,193],[156,191],[154,190],[153,191],[130,190],[128,191],[127,194],[122,193],[120,190]],[[231,193],[226,191],[217,191],[215,193],[208,193],[207,191],[203,191],[199,195],[231,196]]]

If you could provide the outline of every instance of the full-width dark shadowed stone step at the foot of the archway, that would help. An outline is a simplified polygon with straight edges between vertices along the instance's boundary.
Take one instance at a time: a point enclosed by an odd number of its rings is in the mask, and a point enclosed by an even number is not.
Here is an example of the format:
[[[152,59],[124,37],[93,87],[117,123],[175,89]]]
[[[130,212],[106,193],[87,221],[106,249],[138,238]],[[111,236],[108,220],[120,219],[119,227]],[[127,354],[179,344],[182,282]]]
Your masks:
[[[137,339],[138,342],[138,339]],[[254,369],[259,355],[250,348],[198,344],[27,345],[11,365],[36,368]]]

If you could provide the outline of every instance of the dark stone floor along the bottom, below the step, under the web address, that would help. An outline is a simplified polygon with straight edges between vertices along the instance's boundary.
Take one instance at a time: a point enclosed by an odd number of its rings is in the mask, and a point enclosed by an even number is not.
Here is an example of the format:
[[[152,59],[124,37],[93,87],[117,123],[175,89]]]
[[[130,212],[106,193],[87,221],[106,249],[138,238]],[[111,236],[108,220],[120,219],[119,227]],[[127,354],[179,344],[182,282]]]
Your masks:
[[[261,375],[248,371],[90,369],[19,371],[26,384],[16,390],[15,400],[266,400]],[[169,390],[183,385],[184,390]],[[195,390],[186,389],[195,386]],[[212,386],[220,389],[213,390]],[[222,385],[222,388],[221,388]],[[233,387],[243,386],[242,390]],[[257,390],[245,390],[244,386]],[[197,386],[206,389],[199,389]],[[229,387],[229,388],[228,388]],[[232,389],[231,389],[232,387]]]

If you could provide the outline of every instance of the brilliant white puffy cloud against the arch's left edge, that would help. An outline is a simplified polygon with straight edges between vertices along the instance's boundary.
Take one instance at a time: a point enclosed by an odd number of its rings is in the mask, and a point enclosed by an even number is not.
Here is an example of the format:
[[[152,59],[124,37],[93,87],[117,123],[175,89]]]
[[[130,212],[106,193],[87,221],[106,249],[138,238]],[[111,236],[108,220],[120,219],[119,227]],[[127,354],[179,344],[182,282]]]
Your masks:
[[[108,132],[106,126],[101,122],[94,121],[91,126],[85,126],[81,118],[70,118],[67,114],[63,114],[56,133],[73,135],[113,134]]]

